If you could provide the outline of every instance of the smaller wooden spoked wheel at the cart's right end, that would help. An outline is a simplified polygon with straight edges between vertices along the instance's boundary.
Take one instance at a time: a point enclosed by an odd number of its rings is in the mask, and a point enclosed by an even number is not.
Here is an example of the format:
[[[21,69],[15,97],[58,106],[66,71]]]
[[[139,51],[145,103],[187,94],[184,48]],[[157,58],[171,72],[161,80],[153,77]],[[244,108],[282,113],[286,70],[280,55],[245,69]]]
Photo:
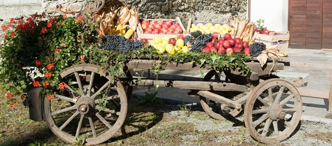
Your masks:
[[[269,79],[250,93],[244,121],[254,139],[273,144],[294,132],[301,114],[301,96],[295,86],[284,79]]]

